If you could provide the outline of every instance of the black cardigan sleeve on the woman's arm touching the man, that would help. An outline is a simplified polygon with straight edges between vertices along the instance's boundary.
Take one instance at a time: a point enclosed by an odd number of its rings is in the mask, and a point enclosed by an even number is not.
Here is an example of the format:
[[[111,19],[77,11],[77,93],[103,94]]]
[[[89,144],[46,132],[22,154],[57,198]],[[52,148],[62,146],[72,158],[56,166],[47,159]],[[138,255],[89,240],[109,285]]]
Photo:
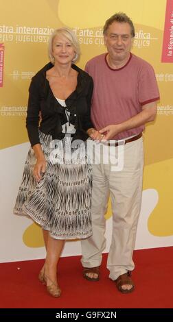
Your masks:
[[[82,124],[84,131],[93,127],[93,123],[91,122],[91,100],[93,95],[93,79],[89,77],[89,90],[87,93],[87,113],[84,115]]]

